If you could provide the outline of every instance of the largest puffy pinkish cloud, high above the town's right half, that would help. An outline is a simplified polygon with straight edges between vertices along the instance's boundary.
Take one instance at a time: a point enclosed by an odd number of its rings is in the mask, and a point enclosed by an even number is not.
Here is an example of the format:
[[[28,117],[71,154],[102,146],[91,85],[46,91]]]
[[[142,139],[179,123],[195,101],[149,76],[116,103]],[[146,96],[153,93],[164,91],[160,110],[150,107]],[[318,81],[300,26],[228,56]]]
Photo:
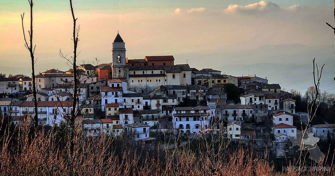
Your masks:
[[[231,4],[224,10],[225,13],[234,14],[234,13],[257,13],[257,12],[271,12],[279,11],[280,7],[278,4],[268,1],[260,1],[257,3],[249,4],[246,6],[241,6],[237,4]]]

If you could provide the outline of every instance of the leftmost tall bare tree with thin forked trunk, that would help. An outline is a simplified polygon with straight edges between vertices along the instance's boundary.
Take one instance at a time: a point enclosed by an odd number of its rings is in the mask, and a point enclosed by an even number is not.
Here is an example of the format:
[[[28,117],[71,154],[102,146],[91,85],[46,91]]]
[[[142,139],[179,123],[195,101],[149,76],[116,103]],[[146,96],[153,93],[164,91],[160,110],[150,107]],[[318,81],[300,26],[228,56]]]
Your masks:
[[[36,83],[35,83],[35,57],[34,57],[34,53],[35,53],[35,47],[36,45],[34,45],[34,48],[32,46],[32,6],[33,6],[33,2],[32,0],[28,0],[29,5],[30,5],[30,31],[28,31],[29,34],[29,45],[28,42],[26,40],[25,37],[25,33],[24,33],[24,27],[23,27],[23,17],[24,17],[24,12],[23,14],[21,14],[21,22],[22,22],[22,31],[23,31],[23,38],[24,38],[24,46],[29,50],[30,53],[30,58],[31,58],[31,77],[32,77],[32,93],[33,93],[33,100],[34,100],[34,118],[35,118],[35,128],[37,128],[38,126],[38,116],[37,116],[37,99],[36,99]]]

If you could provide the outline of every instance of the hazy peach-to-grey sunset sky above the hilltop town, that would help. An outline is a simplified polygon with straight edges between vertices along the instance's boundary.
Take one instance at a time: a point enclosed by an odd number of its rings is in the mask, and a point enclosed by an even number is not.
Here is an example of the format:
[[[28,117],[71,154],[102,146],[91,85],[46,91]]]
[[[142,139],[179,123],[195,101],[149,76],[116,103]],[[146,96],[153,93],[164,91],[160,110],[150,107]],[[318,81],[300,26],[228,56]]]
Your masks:
[[[74,0],[80,24],[80,60],[111,62],[119,30],[128,58],[171,54],[176,63],[226,74],[257,74],[270,83],[304,91],[312,84],[313,57],[326,62],[321,87],[335,92],[332,0]],[[0,72],[30,74],[20,14],[26,0],[0,1]],[[36,71],[68,70],[59,49],[72,53],[67,0],[34,1]],[[283,75],[283,76],[281,76]],[[285,78],[284,78],[285,77]]]

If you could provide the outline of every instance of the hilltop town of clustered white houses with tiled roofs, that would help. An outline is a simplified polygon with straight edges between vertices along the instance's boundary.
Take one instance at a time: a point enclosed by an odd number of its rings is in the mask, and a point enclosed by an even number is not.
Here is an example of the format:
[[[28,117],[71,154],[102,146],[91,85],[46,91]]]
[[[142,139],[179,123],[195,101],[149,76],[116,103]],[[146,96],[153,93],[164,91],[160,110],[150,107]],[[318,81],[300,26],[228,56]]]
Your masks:
[[[271,146],[276,157],[286,157],[294,152],[290,139],[309,122],[307,113],[295,111],[291,93],[279,83],[269,84],[267,77],[175,64],[173,55],[129,59],[119,33],[111,63],[80,64],[77,73],[80,112],[75,123],[83,136],[127,134],[147,144],[157,140],[156,132],[197,138],[210,129],[233,141]],[[61,126],[72,108],[73,70],[47,68],[35,77],[39,125]],[[13,125],[34,118],[31,84],[25,75],[0,78],[0,115]],[[311,129],[327,140],[334,137],[335,124]]]

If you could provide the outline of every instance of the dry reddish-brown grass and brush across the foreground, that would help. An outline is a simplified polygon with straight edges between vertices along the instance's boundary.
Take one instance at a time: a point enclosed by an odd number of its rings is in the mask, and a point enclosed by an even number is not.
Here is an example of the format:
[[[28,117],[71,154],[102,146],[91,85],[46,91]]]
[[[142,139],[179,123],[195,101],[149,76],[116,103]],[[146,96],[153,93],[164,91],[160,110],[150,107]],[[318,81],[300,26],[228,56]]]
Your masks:
[[[166,150],[161,142],[143,147],[123,138],[104,135],[83,138],[76,134],[71,153],[66,135],[64,138],[58,135],[59,131],[47,132],[44,128],[35,133],[27,124],[1,130],[0,175],[322,176],[334,173],[333,169],[332,172],[275,172],[267,154],[261,157],[250,149],[253,147],[228,152],[228,149],[214,149],[210,142],[209,145],[200,142],[203,146],[196,145],[195,149],[188,145]]]

